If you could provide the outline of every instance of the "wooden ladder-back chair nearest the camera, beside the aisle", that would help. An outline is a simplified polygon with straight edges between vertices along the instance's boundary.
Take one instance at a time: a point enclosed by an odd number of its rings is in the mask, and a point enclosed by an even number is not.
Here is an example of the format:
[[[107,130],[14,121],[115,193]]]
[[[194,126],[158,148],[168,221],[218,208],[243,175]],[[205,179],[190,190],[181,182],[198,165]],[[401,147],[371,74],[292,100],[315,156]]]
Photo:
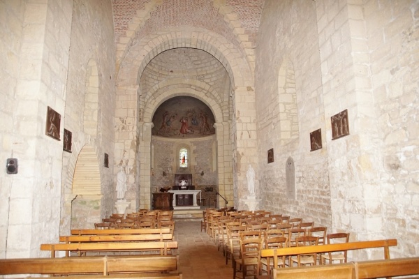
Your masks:
[[[243,278],[250,274],[256,276],[260,266],[260,250],[262,250],[263,239],[240,239],[240,258],[233,259],[233,279],[236,278],[237,264],[243,273]],[[251,271],[248,270],[251,267]]]

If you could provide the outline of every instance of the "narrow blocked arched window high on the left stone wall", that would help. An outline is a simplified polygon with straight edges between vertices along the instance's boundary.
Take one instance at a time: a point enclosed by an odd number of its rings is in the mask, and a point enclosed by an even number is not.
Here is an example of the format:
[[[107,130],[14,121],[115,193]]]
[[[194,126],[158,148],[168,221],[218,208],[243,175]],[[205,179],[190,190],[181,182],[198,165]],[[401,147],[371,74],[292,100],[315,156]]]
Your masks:
[[[90,59],[86,69],[86,89],[84,91],[83,129],[93,137],[98,133],[98,92],[99,78],[96,61]]]

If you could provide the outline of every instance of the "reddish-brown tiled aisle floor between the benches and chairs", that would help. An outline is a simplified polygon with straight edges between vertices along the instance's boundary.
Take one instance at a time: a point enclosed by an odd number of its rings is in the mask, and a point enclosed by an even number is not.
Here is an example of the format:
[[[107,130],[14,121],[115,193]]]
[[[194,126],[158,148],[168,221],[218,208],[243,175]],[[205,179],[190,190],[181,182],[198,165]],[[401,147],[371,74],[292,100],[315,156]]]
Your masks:
[[[217,250],[207,233],[200,232],[200,221],[177,220],[175,240],[183,279],[233,278],[230,261],[226,265],[223,252]]]

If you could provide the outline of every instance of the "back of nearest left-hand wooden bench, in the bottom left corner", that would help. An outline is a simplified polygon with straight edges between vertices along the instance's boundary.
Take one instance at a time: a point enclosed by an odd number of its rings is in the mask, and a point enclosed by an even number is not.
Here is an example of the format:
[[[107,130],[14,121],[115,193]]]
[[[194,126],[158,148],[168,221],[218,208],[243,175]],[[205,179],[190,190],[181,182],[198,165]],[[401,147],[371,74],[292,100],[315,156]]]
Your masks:
[[[107,256],[0,259],[0,275],[75,275],[170,272],[179,269],[179,256]]]

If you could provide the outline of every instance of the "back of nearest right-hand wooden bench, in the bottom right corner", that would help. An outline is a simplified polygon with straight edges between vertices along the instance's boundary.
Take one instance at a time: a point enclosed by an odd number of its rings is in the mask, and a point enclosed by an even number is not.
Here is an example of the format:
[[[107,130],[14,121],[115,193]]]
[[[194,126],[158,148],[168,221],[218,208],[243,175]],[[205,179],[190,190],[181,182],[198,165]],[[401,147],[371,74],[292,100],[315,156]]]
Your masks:
[[[419,257],[274,269],[281,279],[369,279],[419,275]]]

